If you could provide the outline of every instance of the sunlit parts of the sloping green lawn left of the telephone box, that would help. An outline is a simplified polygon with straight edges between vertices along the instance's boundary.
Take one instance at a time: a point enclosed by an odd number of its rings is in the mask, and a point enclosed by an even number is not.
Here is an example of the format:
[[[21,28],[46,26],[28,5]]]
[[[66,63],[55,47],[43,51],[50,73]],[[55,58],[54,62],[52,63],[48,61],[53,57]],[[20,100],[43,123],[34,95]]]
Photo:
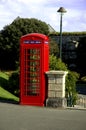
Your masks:
[[[7,74],[6,72],[0,72],[0,78],[3,78],[4,80],[8,80],[9,74]],[[0,85],[0,100],[19,102],[18,97],[14,96],[13,94],[5,90],[1,85]]]

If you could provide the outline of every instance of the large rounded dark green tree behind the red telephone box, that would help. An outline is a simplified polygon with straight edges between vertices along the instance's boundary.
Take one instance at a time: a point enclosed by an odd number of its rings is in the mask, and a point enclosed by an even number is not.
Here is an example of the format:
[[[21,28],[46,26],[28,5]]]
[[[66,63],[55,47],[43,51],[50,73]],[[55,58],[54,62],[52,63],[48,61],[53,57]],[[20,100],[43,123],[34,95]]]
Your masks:
[[[0,32],[0,68],[15,69],[19,61],[19,42],[22,35],[42,33],[48,35],[49,29],[45,22],[31,18],[17,17],[10,25]]]

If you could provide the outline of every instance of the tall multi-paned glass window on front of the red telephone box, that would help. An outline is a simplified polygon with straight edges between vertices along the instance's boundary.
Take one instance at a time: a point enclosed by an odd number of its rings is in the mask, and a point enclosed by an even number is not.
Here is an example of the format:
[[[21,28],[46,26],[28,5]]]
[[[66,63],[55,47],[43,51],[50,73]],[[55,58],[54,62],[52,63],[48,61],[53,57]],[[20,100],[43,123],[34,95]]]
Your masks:
[[[24,94],[39,96],[40,94],[40,49],[24,50]]]

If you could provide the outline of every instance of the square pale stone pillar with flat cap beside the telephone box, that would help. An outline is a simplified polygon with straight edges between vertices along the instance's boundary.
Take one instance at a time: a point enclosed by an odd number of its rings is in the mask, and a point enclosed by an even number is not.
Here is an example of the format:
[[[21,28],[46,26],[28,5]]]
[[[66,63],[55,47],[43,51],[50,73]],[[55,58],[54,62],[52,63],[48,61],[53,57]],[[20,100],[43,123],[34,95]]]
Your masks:
[[[66,71],[48,71],[48,98],[46,105],[49,107],[65,107],[65,76]]]

